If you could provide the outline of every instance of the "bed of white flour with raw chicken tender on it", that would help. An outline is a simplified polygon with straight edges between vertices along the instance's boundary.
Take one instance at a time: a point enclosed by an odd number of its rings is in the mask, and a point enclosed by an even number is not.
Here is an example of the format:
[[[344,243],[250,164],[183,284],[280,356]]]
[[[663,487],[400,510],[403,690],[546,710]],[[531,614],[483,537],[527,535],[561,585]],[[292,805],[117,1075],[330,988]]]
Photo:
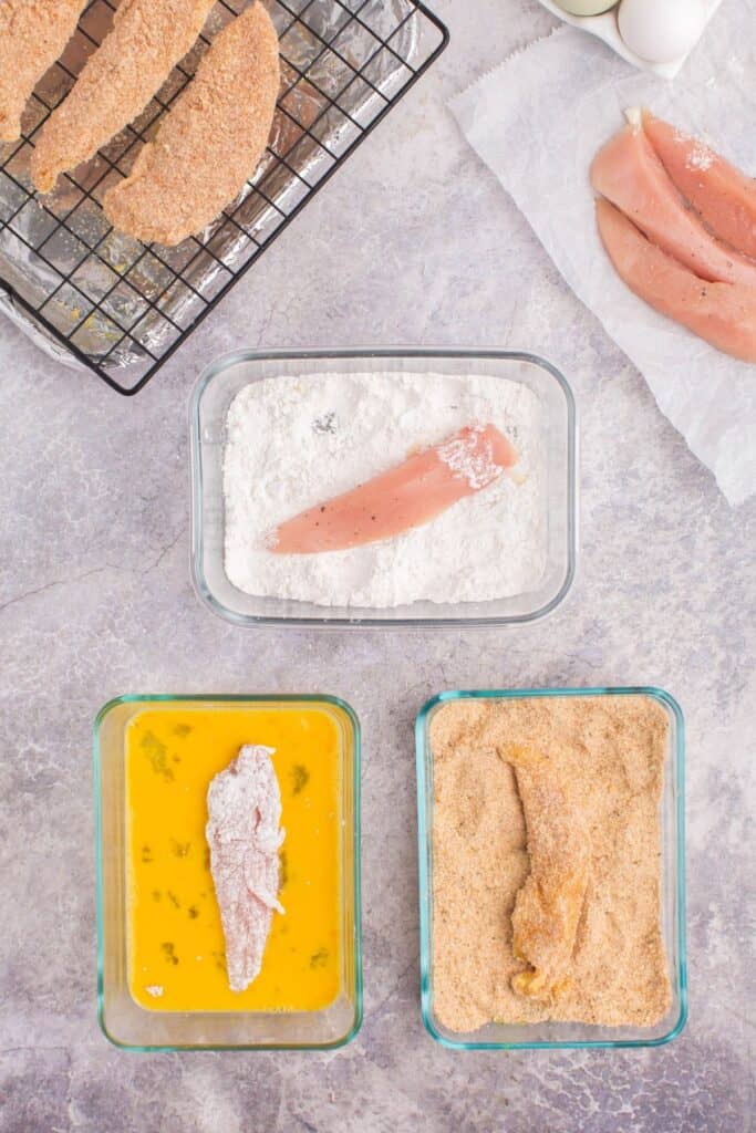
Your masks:
[[[223,451],[229,582],[351,608],[535,589],[547,554],[543,412],[524,382],[493,374],[244,386]]]

